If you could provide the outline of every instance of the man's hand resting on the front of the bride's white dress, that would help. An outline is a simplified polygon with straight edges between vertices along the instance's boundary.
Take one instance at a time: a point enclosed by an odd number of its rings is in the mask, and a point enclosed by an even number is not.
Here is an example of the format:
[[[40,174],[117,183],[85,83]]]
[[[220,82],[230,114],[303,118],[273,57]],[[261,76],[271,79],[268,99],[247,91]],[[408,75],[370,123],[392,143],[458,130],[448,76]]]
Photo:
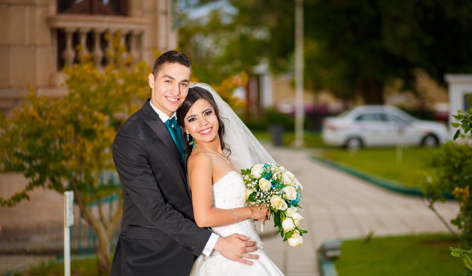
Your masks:
[[[214,249],[227,259],[239,261],[248,265],[253,265],[253,262],[247,259],[259,258],[259,255],[249,253],[258,249],[256,242],[249,240],[249,237],[240,234],[219,237]],[[247,259],[244,259],[243,257]]]

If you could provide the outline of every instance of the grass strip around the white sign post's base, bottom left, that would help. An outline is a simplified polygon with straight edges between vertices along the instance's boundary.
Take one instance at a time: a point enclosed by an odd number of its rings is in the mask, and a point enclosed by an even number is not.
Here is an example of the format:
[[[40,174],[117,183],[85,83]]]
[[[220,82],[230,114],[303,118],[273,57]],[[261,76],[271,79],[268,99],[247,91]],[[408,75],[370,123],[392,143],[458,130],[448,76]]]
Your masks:
[[[110,262],[111,263],[111,262]],[[96,276],[98,275],[98,260],[96,256],[73,259],[70,262],[71,275],[74,276]],[[25,272],[14,273],[15,276],[60,276],[64,275],[64,262],[42,262],[38,266],[30,268]]]

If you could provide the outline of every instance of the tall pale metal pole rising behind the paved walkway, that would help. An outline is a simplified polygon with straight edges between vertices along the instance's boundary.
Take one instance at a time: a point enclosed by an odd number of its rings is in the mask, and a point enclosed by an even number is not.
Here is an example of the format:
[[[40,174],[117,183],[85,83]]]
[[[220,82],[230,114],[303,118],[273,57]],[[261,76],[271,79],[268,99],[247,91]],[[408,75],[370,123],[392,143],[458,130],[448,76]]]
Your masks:
[[[295,0],[295,146],[303,145],[303,0]]]

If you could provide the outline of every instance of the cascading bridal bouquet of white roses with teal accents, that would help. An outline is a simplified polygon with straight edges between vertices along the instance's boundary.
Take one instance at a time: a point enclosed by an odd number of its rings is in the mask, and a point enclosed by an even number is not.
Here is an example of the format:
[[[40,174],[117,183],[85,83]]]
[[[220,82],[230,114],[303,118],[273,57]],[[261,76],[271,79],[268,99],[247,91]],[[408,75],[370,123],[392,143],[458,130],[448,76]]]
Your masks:
[[[274,217],[274,226],[279,228],[277,233],[290,246],[302,244],[302,235],[308,231],[298,227],[303,220],[298,213],[303,190],[298,179],[284,167],[270,163],[254,165],[241,173],[247,200],[267,206]]]

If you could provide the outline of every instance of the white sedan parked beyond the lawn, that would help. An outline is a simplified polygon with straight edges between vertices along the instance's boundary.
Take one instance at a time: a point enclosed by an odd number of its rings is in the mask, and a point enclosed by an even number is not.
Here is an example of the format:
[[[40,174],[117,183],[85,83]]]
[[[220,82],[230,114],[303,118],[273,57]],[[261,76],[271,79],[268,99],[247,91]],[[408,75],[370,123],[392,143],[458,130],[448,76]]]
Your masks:
[[[445,124],[419,120],[385,105],[364,105],[323,121],[323,141],[347,148],[395,145],[438,146],[451,139]]]

